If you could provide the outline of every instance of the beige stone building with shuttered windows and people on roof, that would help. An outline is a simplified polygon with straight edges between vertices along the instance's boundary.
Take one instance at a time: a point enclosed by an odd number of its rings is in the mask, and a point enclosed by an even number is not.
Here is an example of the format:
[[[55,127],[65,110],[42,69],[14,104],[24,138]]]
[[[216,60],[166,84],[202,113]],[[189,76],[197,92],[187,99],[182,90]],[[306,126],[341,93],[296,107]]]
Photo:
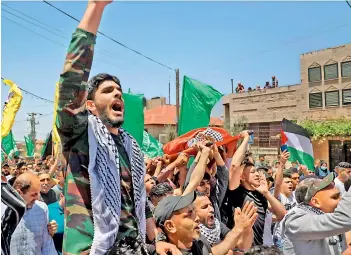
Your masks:
[[[283,118],[351,121],[351,44],[302,54],[300,73],[300,84],[223,97],[225,122],[246,122],[255,131],[253,150],[277,155]],[[313,147],[315,159],[331,167],[336,161],[351,162],[350,136],[327,137],[314,141]]]

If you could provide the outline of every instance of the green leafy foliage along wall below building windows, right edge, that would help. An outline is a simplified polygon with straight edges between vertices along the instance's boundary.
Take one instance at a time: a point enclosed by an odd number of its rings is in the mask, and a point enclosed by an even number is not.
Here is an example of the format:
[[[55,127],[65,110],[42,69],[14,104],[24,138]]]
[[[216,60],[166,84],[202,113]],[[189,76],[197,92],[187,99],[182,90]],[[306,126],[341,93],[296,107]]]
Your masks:
[[[351,136],[351,120],[305,120],[300,123],[316,139],[326,136]]]

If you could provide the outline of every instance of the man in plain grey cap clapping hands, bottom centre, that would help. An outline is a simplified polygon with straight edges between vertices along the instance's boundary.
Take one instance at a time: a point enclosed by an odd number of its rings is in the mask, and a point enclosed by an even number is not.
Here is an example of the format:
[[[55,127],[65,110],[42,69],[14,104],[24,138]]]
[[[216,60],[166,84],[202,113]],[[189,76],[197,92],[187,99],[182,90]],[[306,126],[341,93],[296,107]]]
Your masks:
[[[236,208],[236,227],[227,233],[222,242],[211,247],[206,238],[200,235],[199,219],[192,205],[195,199],[195,192],[185,196],[168,196],[155,209],[157,225],[162,228],[168,241],[176,245],[183,255],[227,254],[235,248],[242,234],[251,228],[257,218],[253,204],[247,204],[242,211]]]

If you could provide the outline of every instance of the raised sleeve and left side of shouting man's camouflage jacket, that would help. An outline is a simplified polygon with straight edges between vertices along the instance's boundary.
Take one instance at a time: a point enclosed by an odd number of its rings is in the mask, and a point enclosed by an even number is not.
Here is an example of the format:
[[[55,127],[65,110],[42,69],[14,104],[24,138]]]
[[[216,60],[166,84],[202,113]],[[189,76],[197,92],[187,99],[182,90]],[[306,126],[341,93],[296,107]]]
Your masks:
[[[95,35],[77,29],[59,81],[56,126],[67,160],[63,254],[89,254],[94,227],[89,185],[87,81]]]

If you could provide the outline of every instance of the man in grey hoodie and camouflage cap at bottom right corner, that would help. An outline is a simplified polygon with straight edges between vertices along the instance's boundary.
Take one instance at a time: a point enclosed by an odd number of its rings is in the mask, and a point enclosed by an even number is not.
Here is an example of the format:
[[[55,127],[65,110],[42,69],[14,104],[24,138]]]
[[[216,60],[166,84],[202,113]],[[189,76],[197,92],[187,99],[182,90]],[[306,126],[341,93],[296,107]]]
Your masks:
[[[282,222],[284,254],[345,254],[344,234],[351,230],[351,190],[341,199],[333,181],[331,173],[323,179],[307,178],[297,186],[299,205]]]

